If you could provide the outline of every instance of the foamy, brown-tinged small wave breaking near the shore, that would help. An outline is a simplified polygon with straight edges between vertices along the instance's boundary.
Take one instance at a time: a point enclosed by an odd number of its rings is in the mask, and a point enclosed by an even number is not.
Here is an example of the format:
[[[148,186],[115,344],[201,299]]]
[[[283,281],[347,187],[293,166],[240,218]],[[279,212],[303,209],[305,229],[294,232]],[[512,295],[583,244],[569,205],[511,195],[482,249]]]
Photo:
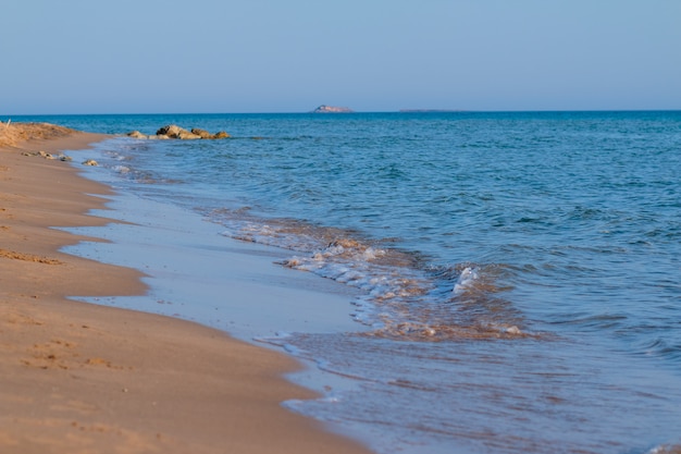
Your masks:
[[[495,278],[504,267],[470,262],[431,267],[417,254],[369,241],[356,232],[299,220],[260,219],[249,209],[219,209],[209,218],[223,235],[286,248],[278,263],[359,289],[351,317],[372,327],[367,335],[411,341],[537,336]]]

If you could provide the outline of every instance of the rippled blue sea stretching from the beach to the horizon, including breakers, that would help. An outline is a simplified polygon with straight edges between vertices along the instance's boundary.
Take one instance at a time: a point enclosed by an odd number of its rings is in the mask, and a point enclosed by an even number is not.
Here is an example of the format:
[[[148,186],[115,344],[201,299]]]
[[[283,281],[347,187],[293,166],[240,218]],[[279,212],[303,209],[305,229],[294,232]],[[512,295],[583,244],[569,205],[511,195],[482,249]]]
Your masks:
[[[357,330],[252,340],[348,383],[293,412],[382,454],[681,452],[680,111],[13,121],[115,134],[88,174],[351,290]],[[231,137],[125,136],[166,124]]]

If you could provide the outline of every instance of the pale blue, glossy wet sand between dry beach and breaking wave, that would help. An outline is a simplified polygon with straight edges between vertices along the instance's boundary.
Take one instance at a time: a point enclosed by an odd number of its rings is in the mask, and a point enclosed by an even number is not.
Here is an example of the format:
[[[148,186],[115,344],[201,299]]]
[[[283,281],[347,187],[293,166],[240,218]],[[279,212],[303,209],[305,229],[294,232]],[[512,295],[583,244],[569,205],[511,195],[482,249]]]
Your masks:
[[[102,181],[98,169],[85,172],[88,179]],[[145,273],[149,292],[78,300],[191,320],[257,344],[280,333],[368,329],[350,317],[358,291],[283,267],[288,249],[227,237],[222,225],[173,203],[123,192],[110,197],[107,206],[114,223],[66,229],[107,244],[81,242],[64,250],[137,269]]]

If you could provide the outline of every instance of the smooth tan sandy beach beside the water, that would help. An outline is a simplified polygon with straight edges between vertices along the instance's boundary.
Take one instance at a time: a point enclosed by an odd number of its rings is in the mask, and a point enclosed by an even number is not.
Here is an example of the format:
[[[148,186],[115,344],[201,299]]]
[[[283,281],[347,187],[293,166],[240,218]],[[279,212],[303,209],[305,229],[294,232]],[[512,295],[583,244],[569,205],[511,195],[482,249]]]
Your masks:
[[[86,194],[109,189],[34,155],[102,138],[0,123],[0,452],[368,452],[281,406],[313,397],[281,378],[298,367],[290,358],[190,322],[65,299],[145,292],[134,270],[60,253],[83,238],[49,229],[110,222],[85,214],[104,203]]]

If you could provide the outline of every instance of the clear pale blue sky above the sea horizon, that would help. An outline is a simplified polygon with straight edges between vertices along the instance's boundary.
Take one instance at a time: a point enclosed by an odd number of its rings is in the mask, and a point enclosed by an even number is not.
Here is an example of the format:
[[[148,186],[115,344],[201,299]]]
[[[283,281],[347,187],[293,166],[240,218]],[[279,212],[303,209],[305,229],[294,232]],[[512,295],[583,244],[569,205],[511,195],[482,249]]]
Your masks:
[[[0,114],[681,109],[681,0],[4,0]]]

